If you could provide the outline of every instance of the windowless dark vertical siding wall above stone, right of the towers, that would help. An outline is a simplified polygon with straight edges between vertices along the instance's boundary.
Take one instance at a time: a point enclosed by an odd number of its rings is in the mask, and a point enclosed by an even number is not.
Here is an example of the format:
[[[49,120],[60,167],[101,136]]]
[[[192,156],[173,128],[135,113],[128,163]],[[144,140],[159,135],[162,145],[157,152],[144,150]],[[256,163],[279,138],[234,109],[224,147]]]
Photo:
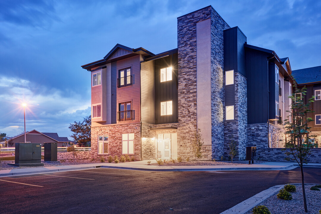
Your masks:
[[[246,48],[247,124],[267,123],[267,54]]]

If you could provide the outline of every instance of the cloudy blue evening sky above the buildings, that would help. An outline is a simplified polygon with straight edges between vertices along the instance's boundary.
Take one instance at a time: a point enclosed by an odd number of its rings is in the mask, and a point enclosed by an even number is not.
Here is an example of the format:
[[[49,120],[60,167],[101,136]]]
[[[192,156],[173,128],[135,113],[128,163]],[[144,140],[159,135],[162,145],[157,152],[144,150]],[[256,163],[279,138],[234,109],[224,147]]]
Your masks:
[[[208,5],[247,43],[321,65],[321,1],[0,1],[0,133],[57,132],[91,113],[90,72],[117,43],[154,54],[177,47],[177,17]]]

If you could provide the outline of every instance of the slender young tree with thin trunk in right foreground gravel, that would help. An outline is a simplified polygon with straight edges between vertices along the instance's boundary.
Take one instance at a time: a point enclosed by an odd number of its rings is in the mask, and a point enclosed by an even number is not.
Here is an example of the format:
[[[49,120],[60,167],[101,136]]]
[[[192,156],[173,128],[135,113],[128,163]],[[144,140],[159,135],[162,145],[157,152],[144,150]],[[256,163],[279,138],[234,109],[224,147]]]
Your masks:
[[[311,127],[308,127],[309,122],[313,121],[312,118],[308,117],[311,111],[309,106],[311,102],[314,102],[313,98],[309,98],[307,104],[304,103],[302,97],[306,96],[307,88],[303,87],[301,90],[295,87],[295,93],[289,98],[292,99],[292,104],[290,106],[290,116],[292,121],[288,119],[285,120],[285,128],[288,139],[285,150],[287,155],[286,160],[295,160],[301,169],[301,180],[302,180],[302,192],[303,192],[303,203],[304,211],[308,212],[307,200],[305,196],[304,188],[304,174],[303,174],[303,164],[308,163],[308,157],[311,154],[312,138],[316,135],[309,135],[308,131]]]

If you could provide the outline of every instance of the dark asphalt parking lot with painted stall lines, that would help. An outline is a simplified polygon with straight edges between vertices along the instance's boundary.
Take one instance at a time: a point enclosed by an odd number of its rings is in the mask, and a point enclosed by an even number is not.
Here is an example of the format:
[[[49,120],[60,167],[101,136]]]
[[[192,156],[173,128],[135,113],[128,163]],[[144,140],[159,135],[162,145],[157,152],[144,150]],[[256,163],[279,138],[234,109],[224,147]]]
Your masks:
[[[305,168],[321,183],[321,168]],[[151,172],[108,168],[0,178],[0,213],[221,213],[271,186],[280,171]],[[173,209],[173,210],[170,210]]]

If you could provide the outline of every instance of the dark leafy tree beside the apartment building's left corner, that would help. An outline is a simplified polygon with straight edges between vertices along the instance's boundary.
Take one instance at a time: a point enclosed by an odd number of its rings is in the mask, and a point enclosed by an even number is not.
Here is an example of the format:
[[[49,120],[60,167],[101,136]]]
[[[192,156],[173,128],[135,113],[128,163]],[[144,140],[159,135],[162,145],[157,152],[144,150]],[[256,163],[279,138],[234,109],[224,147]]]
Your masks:
[[[91,141],[91,115],[84,117],[82,122],[74,121],[68,128],[73,132],[70,136],[80,147],[86,146],[87,142]]]

